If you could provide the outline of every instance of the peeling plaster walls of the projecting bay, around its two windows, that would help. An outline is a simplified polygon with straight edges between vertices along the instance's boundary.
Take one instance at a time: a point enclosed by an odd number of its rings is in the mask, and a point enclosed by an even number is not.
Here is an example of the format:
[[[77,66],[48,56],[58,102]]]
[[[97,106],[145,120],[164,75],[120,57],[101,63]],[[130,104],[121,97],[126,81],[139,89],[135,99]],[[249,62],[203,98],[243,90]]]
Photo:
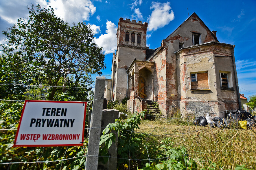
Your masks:
[[[205,44],[187,48],[177,54],[178,97],[185,114],[224,116],[216,113],[228,109],[238,109],[237,91],[220,88],[220,71],[230,73],[232,86],[235,74],[230,45]],[[191,90],[191,73],[208,73],[209,90]]]

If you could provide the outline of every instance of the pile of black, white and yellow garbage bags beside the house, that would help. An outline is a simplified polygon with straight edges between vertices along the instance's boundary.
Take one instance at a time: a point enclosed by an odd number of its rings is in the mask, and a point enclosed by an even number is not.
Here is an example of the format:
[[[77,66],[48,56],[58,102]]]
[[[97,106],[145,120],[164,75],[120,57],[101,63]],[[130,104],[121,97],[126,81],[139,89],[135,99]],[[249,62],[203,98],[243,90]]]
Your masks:
[[[196,117],[193,123],[197,126],[210,126],[213,128],[241,127],[243,129],[251,129],[256,127],[256,116],[252,116],[245,110],[226,110],[223,113],[225,115],[224,118],[219,116],[213,118],[208,113],[206,117]]]

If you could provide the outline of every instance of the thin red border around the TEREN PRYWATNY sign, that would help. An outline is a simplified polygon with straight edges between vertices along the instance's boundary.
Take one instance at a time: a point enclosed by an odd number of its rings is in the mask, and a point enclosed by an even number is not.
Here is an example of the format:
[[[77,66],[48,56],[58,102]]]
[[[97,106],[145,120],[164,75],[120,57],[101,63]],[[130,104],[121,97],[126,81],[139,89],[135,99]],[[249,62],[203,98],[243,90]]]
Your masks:
[[[17,145],[16,144],[16,141],[17,141],[17,137],[18,137],[18,134],[19,134],[19,130],[20,130],[20,126],[21,126],[21,120],[22,120],[22,117],[23,117],[23,113],[24,113],[24,110],[25,110],[25,107],[26,107],[26,103],[29,103],[29,102],[45,102],[45,103],[81,103],[81,104],[84,104],[85,107],[84,107],[84,124],[83,124],[83,129],[82,129],[82,141],[80,144],[61,144],[61,145],[58,145],[58,144],[53,144],[53,145]],[[25,103],[24,103],[24,106],[23,106],[23,109],[22,109],[22,113],[21,113],[21,118],[20,118],[20,121],[19,121],[19,126],[18,126],[18,129],[17,129],[17,132],[16,132],[16,135],[15,135],[15,139],[14,139],[14,145],[13,147],[42,147],[42,146],[46,146],[46,147],[54,147],[54,146],[83,146],[84,145],[84,125],[85,125],[85,117],[86,117],[86,105],[87,105],[87,102],[86,101],[51,101],[51,100],[25,100]]]

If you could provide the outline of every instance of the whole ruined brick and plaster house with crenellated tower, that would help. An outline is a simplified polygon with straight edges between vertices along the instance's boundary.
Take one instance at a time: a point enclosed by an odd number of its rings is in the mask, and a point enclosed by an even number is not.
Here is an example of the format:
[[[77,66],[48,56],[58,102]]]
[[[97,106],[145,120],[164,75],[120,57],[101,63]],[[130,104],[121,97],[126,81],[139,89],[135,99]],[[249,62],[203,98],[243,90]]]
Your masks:
[[[146,22],[119,19],[108,99],[129,96],[128,107],[139,112],[147,100],[157,101],[165,116],[172,105],[185,108],[183,115],[241,107],[235,45],[220,43],[216,31],[195,13],[154,50],[146,47],[147,27]]]

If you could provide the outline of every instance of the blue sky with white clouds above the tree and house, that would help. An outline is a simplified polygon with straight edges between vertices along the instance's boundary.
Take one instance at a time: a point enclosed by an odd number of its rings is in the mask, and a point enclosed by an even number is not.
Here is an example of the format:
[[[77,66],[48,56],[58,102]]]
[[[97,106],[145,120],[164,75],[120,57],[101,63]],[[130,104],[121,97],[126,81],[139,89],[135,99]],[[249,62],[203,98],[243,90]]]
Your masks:
[[[146,0],[8,0],[0,1],[0,30],[28,15],[31,3],[54,8],[55,14],[69,23],[85,21],[95,31],[95,42],[105,50],[106,69],[111,74],[116,30],[120,17],[148,22],[147,45],[155,49],[195,12],[207,27],[217,31],[222,43],[235,44],[240,93],[256,94],[256,1],[146,1]],[[187,10],[188,9],[188,10]],[[4,43],[0,35],[0,43]]]

